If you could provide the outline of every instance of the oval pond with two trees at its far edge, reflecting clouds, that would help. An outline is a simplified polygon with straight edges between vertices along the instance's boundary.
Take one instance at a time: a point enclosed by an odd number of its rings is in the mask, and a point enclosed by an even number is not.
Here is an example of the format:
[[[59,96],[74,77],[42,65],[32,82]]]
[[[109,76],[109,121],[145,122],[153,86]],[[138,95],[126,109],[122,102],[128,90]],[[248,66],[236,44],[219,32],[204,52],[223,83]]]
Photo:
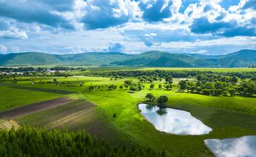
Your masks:
[[[144,103],[139,104],[139,110],[161,132],[198,135],[208,134],[212,131],[210,127],[193,117],[190,112],[172,108],[159,108]]]

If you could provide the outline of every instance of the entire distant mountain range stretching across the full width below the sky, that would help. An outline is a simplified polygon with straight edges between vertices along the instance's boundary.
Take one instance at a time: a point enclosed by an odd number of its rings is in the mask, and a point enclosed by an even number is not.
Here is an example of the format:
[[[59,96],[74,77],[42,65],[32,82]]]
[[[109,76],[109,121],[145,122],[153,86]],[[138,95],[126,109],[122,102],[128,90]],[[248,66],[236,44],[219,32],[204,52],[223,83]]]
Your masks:
[[[256,50],[240,50],[225,55],[179,54],[151,51],[142,54],[87,52],[83,54],[45,54],[22,52],[0,54],[0,66],[90,65],[158,67],[245,67],[256,64]]]

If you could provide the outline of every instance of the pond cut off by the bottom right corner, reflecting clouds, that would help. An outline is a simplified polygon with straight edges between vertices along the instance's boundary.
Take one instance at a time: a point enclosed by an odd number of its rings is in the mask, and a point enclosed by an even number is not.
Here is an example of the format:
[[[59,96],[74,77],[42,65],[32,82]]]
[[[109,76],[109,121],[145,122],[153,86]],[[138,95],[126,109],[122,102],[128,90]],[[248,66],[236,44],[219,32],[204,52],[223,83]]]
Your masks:
[[[233,139],[206,139],[206,146],[217,157],[255,157],[256,136]]]

